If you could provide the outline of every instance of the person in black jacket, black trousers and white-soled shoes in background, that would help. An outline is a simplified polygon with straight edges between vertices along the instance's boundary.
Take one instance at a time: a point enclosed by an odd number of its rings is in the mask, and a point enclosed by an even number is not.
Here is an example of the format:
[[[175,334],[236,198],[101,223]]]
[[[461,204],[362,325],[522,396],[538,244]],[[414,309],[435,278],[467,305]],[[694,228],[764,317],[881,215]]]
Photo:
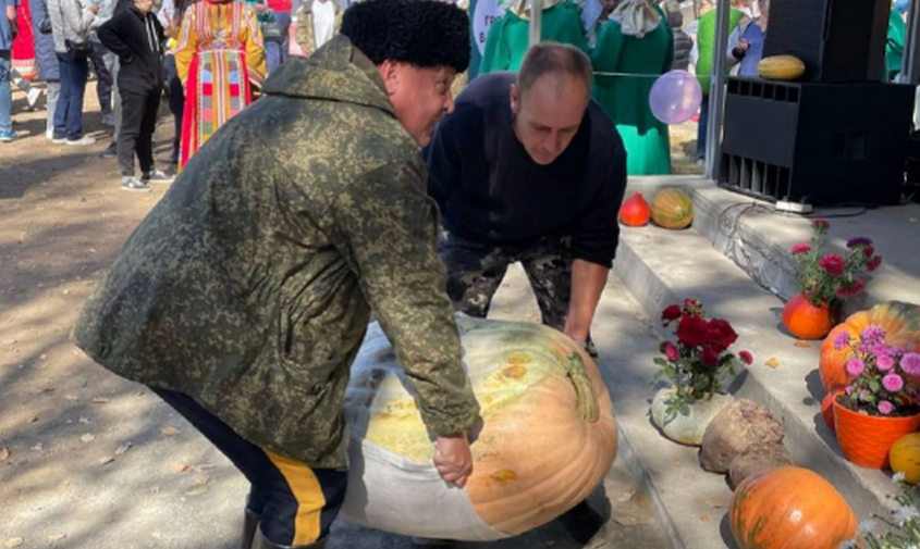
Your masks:
[[[114,15],[99,27],[99,40],[121,65],[118,76],[122,126],[118,155],[123,190],[149,191],[149,183],[172,179],[154,165],[154,130],[163,93],[165,70],[162,43],[165,35],[151,13],[154,0],[119,2]],[[134,155],[140,179],[134,177]]]

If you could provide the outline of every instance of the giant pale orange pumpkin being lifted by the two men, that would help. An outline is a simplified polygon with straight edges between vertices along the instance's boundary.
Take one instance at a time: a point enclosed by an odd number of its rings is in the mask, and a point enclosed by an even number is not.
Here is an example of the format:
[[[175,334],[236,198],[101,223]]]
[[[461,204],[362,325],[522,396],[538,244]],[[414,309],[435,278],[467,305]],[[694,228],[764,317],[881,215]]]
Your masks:
[[[483,421],[465,489],[434,470],[412,384],[373,323],[345,397],[349,520],[409,536],[500,539],[574,507],[613,463],[610,396],[577,344],[539,324],[458,315],[457,325]]]

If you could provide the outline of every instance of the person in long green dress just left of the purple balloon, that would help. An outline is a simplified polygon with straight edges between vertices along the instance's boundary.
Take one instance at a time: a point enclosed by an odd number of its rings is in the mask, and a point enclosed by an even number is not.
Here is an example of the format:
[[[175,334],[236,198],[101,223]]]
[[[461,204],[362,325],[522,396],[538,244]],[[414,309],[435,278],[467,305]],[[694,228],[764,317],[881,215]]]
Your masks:
[[[591,62],[596,72],[592,96],[623,137],[627,173],[670,174],[667,125],[657,120],[649,107],[655,77],[670,71],[674,62],[674,35],[667,17],[649,0],[624,0],[601,29]]]

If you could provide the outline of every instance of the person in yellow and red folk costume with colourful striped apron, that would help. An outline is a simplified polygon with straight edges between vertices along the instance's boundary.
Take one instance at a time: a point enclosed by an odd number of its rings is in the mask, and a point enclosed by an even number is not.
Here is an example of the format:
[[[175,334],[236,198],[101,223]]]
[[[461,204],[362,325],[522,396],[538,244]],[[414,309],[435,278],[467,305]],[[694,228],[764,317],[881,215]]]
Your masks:
[[[179,169],[218,128],[253,101],[266,75],[256,12],[242,0],[201,0],[183,15],[175,50],[185,88]]]

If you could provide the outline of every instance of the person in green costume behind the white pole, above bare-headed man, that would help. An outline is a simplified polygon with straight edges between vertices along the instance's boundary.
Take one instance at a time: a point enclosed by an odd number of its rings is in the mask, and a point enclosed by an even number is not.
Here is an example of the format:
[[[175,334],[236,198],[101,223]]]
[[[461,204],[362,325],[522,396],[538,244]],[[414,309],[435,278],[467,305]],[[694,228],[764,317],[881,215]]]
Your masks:
[[[530,14],[526,0],[517,0],[504,16],[489,28],[479,74],[520,68],[530,46]],[[571,0],[545,0],[540,40],[571,43],[588,52],[588,38],[581,26],[581,9]]]

